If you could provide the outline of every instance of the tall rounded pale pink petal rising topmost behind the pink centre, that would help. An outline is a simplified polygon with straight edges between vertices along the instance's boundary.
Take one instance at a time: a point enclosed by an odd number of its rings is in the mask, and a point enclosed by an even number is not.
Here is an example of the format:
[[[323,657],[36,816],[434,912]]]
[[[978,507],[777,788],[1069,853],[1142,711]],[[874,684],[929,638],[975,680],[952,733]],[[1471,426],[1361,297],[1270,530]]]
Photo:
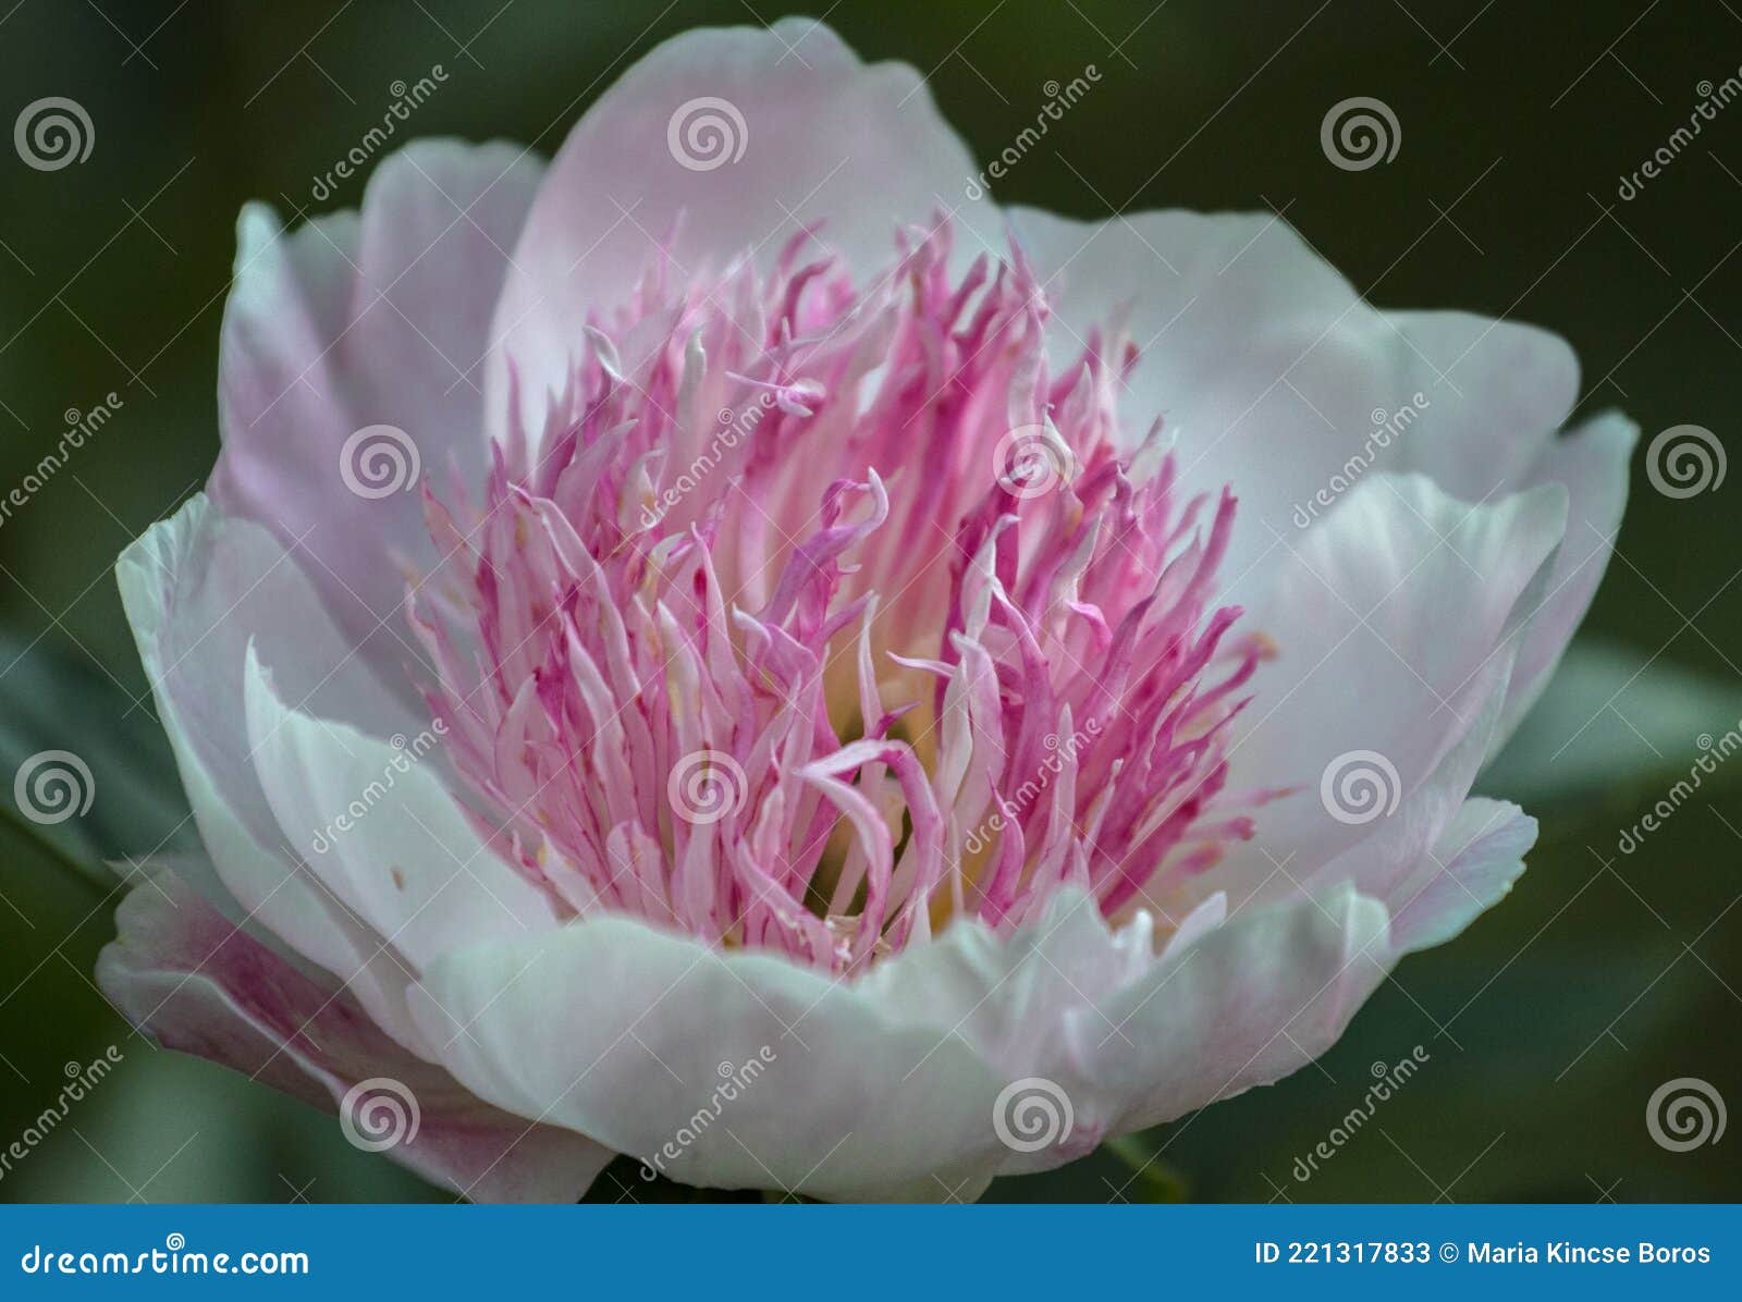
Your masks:
[[[725,153],[685,139],[709,115]],[[976,171],[913,68],[862,64],[812,19],[667,40],[575,125],[533,204],[496,312],[491,432],[512,364],[537,437],[587,313],[610,320],[660,247],[681,280],[744,254],[772,261],[820,219],[822,240],[871,277],[902,223],[939,211],[960,211],[958,245],[1002,244],[989,204],[965,197]]]

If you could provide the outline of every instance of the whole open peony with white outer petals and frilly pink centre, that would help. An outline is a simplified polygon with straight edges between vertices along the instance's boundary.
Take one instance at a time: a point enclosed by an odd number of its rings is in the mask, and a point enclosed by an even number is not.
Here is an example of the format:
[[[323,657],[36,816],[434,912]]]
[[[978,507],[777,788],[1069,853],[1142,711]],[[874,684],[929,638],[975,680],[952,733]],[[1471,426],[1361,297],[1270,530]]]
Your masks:
[[[660,45],[550,164],[249,205],[120,559],[164,1044],[470,1198],[974,1198],[1275,1081],[1523,870],[1618,527],[1543,331],[1279,218],[996,209],[906,66]]]

